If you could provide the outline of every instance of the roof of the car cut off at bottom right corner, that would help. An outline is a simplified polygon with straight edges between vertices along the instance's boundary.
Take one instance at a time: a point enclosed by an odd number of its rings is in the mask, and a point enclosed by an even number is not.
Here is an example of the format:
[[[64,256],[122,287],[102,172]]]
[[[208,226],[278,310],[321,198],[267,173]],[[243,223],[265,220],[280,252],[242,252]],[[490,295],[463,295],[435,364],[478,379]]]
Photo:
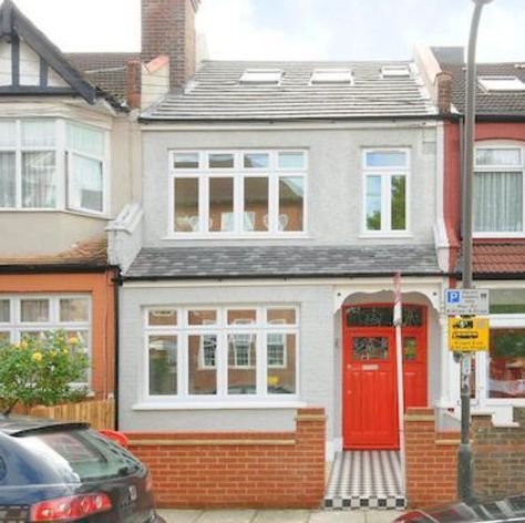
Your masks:
[[[525,494],[408,512],[394,523],[525,522]]]

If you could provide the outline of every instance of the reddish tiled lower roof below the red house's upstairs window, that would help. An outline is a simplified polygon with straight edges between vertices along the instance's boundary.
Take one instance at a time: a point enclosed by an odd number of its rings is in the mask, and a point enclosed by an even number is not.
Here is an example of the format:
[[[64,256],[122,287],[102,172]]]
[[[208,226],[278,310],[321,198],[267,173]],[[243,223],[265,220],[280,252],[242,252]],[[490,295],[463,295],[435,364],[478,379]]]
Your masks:
[[[457,260],[462,273],[463,257]],[[472,253],[472,271],[477,277],[525,276],[525,242],[476,242]]]

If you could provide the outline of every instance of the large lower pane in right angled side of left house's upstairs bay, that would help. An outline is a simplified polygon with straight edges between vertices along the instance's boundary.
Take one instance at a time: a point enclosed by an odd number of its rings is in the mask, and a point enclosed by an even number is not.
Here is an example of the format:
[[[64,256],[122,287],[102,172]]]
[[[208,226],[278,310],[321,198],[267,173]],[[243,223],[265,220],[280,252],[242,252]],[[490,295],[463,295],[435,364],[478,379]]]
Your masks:
[[[75,209],[104,209],[103,166],[99,160],[76,154],[71,157],[69,206]]]

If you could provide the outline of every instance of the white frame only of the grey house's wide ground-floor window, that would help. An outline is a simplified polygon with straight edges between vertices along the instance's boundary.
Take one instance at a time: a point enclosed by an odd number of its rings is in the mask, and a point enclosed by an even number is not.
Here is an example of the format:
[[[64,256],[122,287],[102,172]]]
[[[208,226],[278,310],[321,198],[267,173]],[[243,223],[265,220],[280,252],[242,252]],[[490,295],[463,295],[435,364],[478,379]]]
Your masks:
[[[152,310],[176,310],[177,311],[177,326],[150,326],[148,325],[148,312]],[[276,309],[294,309],[296,312],[295,324],[275,324],[267,322],[267,311]],[[188,324],[188,311],[189,310],[216,310],[217,322],[213,325],[189,325]],[[256,321],[255,322],[234,322],[228,325],[227,314],[231,310],[255,310]],[[224,306],[224,307],[209,307],[209,306],[154,306],[145,307],[143,310],[143,326],[144,326],[144,358],[141,365],[141,377],[142,387],[140,388],[140,402],[143,404],[157,404],[157,406],[169,406],[179,407],[185,406],[192,407],[194,404],[206,404],[210,408],[220,408],[222,406],[246,406],[246,404],[275,404],[280,406],[282,403],[297,402],[299,398],[300,387],[300,318],[299,308],[296,305],[279,305],[279,306]],[[254,394],[228,394],[228,370],[231,368],[228,366],[228,336],[229,335],[247,335],[255,336],[256,338],[256,361],[254,366],[246,367],[233,367],[234,369],[256,369],[256,389],[257,392]],[[280,335],[295,335],[296,337],[296,368],[295,368],[295,386],[296,392],[294,394],[285,393],[268,393],[267,384],[267,335],[268,334],[280,334]],[[189,361],[188,361],[188,339],[191,336],[200,336],[202,340],[206,335],[217,336],[217,350],[216,350],[216,366],[200,367],[199,369],[209,368],[216,370],[217,379],[217,393],[205,396],[205,394],[191,394],[189,393]],[[148,339],[151,336],[174,336],[177,338],[177,393],[176,394],[150,394],[150,351],[148,351]],[[202,349],[202,346],[200,348]],[[200,360],[200,350],[199,350]],[[270,367],[274,368],[274,367]],[[168,408],[169,408],[168,407]]]

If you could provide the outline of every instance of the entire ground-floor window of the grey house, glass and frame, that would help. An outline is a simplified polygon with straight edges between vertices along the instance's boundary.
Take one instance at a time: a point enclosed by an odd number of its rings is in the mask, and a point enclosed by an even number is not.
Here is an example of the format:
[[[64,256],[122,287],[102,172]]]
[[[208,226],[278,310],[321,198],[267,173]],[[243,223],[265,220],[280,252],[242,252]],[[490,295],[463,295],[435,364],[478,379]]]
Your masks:
[[[295,307],[152,308],[145,314],[152,401],[297,396]]]

